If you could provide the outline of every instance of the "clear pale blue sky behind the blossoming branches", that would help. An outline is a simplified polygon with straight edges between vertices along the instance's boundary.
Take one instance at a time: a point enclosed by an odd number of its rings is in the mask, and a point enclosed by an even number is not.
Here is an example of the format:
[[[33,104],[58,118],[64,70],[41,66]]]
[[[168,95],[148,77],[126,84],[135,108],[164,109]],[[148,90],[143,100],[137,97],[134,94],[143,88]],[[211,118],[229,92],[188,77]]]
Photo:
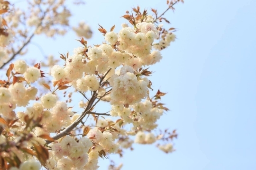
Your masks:
[[[103,37],[98,24],[110,29],[126,22],[126,10],[165,10],[165,0],[87,0],[74,7],[72,24],[85,20],[93,29],[91,44]],[[171,110],[160,127],[177,129],[176,152],[165,154],[155,146],[134,144],[126,151],[122,170],[256,170],[256,0],[185,0],[166,13],[178,28],[177,41],[163,51],[163,59],[150,70],[153,88],[168,94],[163,102]],[[80,44],[74,33],[45,36],[46,54],[73,51]],[[40,57],[30,45],[30,56]],[[110,157],[110,159],[115,157]],[[106,170],[109,160],[100,161]]]

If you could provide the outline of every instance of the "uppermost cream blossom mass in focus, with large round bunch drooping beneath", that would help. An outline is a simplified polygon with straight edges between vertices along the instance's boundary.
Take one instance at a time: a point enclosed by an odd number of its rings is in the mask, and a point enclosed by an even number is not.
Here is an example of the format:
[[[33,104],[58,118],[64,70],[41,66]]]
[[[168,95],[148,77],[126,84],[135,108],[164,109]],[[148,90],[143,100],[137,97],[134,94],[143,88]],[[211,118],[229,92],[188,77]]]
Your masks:
[[[170,35],[175,38],[174,34]],[[159,31],[150,22],[137,24],[137,30],[124,27],[119,34],[108,32],[105,40],[109,44],[103,43],[89,48],[85,55],[83,55],[84,48],[74,49],[73,55],[66,59],[64,67],[55,65],[51,69],[53,81],[60,79],[72,81],[73,87],[81,92],[97,91],[100,85],[96,80],[95,72],[104,74],[110,68],[112,70],[120,68],[115,74],[111,72],[108,75],[113,88],[110,104],[140,102],[147,95],[149,81],[146,77],[137,76],[135,72],[162,59],[160,51],[152,51],[152,43],[159,38],[158,36]],[[174,41],[168,35],[166,37],[165,46]],[[158,46],[163,47],[161,43]]]

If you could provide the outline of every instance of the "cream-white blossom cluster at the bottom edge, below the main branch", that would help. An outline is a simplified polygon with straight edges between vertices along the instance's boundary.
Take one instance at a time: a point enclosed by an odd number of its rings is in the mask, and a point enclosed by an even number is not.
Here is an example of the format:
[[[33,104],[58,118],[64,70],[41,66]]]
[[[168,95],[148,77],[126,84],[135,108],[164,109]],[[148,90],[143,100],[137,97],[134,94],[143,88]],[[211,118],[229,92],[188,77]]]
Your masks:
[[[99,122],[101,127],[108,126],[107,120]],[[93,128],[79,141],[65,136],[59,143],[51,144],[51,158],[46,167],[50,170],[96,170],[99,153],[116,153],[119,149],[119,144],[114,142],[118,138],[116,133]]]

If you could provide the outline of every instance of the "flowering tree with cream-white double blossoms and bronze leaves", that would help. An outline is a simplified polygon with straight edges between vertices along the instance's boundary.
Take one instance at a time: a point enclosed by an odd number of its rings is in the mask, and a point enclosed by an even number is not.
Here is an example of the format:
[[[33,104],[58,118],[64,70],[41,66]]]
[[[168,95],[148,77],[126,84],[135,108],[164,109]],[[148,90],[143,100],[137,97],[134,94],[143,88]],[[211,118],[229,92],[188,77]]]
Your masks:
[[[105,41],[93,45],[85,40],[91,38],[89,26],[69,25],[71,13],[64,0],[27,0],[26,11],[0,0],[0,69],[6,72],[0,80],[0,168],[95,170],[99,157],[123,156],[133,143],[157,142],[165,153],[173,152],[175,130],[153,133],[168,109],[160,102],[165,93],[149,93],[152,82],[147,77],[152,74],[149,66],[162,59],[161,50],[175,40],[175,29],[165,28],[162,21],[169,23],[164,14],[177,2],[183,0],[167,0],[160,14],[133,8],[122,16],[128,24],[118,31],[99,25]],[[81,47],[61,54],[59,65],[53,58],[28,63],[25,49],[34,36],[64,35],[71,28],[82,36]],[[41,67],[50,68],[50,82]],[[70,106],[77,95],[84,98],[81,112]],[[100,102],[112,109],[97,112]]]

